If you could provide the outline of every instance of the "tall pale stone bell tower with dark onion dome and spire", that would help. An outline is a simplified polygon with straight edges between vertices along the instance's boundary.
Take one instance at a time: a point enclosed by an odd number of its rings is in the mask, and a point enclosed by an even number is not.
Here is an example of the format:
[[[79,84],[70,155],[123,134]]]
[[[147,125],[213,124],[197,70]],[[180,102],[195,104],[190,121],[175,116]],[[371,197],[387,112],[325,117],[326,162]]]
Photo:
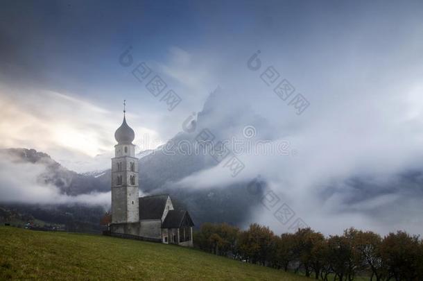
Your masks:
[[[135,157],[135,133],[123,122],[114,133],[117,144],[112,158],[112,224],[139,223],[138,159]]]

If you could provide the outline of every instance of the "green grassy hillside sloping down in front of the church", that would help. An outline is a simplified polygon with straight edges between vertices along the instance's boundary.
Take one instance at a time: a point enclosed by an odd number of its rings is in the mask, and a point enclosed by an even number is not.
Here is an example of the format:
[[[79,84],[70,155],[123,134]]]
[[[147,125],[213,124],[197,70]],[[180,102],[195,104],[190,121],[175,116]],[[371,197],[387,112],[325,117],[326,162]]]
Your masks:
[[[311,280],[199,250],[0,227],[0,280]]]

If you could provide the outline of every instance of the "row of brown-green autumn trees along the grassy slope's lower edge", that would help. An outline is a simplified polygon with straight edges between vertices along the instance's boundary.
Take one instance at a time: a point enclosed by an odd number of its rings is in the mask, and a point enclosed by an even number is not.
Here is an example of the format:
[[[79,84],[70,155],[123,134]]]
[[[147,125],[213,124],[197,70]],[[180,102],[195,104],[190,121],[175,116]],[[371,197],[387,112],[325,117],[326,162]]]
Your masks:
[[[423,280],[423,241],[398,231],[385,237],[349,228],[325,237],[311,228],[275,235],[254,223],[240,230],[227,223],[204,223],[194,233],[194,246],[243,262],[294,271],[325,281]]]

